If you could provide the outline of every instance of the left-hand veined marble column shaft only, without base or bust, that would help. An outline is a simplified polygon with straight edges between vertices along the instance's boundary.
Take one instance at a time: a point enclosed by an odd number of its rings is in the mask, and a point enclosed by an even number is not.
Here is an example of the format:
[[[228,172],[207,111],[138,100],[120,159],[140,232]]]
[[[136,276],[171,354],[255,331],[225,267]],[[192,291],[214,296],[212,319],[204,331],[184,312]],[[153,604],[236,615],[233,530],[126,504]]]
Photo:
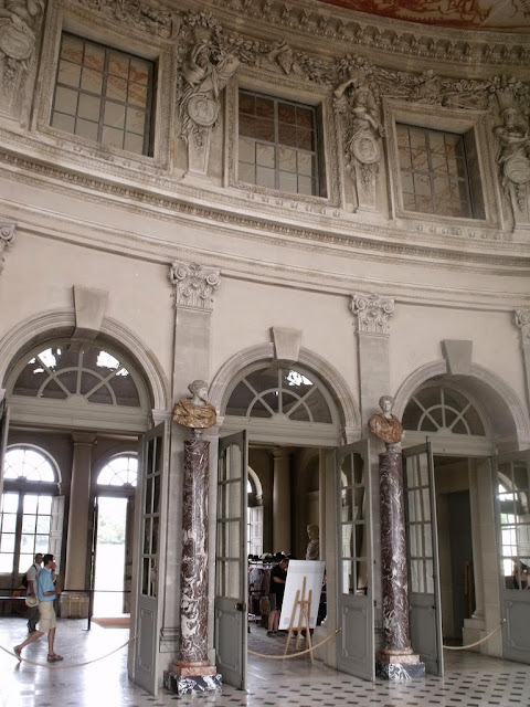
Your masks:
[[[208,665],[209,442],[184,442],[180,659]]]

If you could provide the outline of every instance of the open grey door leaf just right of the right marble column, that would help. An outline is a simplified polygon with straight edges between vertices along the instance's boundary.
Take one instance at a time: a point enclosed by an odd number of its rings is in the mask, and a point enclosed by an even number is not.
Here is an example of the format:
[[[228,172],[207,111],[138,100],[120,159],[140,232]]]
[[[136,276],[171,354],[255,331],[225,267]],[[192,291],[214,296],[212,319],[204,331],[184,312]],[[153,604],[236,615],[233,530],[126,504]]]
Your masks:
[[[431,443],[403,450],[411,643],[433,675],[444,674],[438,540]]]

